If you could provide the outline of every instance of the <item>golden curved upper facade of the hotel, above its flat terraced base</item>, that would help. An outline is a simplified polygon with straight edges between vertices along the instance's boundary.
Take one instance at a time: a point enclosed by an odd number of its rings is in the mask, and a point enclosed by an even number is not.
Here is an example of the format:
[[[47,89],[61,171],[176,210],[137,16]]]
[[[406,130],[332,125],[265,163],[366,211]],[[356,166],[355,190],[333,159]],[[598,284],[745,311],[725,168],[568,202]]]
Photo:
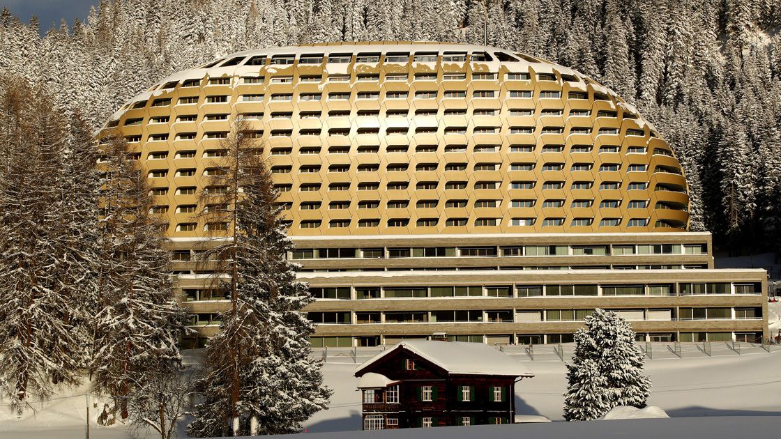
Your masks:
[[[497,48],[341,44],[230,55],[168,77],[111,124],[141,152],[171,237],[231,121],[251,121],[290,233],[686,228],[686,180],[632,105]]]

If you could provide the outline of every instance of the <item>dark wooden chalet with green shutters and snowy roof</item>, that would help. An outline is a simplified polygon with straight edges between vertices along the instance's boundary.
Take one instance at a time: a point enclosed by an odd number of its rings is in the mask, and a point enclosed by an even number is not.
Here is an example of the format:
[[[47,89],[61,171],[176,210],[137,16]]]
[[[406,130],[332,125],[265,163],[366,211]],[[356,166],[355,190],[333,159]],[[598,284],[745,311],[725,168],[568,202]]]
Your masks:
[[[515,383],[533,374],[482,343],[402,341],[355,371],[363,430],[513,423]]]

